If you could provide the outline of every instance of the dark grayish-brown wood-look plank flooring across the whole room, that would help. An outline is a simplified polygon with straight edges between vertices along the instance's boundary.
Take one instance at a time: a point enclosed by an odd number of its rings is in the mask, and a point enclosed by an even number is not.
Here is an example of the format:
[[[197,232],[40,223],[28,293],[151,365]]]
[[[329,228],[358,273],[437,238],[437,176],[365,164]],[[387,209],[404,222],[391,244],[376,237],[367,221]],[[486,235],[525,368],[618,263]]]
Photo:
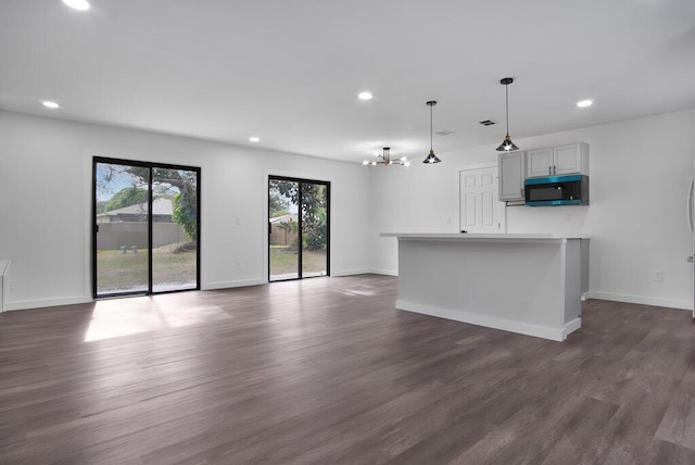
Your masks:
[[[0,314],[2,464],[693,464],[686,311],[565,342],[394,310],[365,275]]]

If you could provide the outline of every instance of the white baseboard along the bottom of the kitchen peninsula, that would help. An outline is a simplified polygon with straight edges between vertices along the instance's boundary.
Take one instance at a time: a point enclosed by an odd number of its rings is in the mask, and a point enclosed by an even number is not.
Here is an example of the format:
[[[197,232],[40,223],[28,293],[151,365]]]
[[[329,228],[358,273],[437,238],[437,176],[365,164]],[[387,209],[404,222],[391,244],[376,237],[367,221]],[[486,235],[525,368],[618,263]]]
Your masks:
[[[534,336],[536,338],[549,339],[553,341],[564,341],[572,331],[581,327],[581,319],[576,318],[566,324],[563,328],[552,328],[547,326],[531,325],[528,323],[510,322],[508,319],[496,318],[489,315],[480,315],[462,310],[442,309],[439,306],[422,305],[403,300],[395,301],[395,307],[424,315],[437,316],[439,318],[453,319],[455,322],[469,323],[471,325],[484,326],[486,328],[502,329],[517,332],[519,335]]]

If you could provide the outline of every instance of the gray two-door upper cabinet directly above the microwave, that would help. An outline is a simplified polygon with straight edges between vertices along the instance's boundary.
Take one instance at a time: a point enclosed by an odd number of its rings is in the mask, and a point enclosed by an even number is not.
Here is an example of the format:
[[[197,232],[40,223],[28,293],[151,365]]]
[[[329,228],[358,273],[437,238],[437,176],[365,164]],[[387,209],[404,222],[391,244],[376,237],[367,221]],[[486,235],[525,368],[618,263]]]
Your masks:
[[[529,150],[527,177],[589,174],[589,146],[584,142]]]

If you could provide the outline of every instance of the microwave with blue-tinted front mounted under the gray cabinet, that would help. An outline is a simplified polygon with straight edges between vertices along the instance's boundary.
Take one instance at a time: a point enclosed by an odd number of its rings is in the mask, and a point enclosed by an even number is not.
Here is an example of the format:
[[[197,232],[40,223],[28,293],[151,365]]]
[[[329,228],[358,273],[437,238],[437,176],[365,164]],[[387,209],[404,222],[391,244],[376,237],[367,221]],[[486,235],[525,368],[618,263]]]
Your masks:
[[[529,206],[589,205],[589,176],[528,178],[525,183],[525,197]]]

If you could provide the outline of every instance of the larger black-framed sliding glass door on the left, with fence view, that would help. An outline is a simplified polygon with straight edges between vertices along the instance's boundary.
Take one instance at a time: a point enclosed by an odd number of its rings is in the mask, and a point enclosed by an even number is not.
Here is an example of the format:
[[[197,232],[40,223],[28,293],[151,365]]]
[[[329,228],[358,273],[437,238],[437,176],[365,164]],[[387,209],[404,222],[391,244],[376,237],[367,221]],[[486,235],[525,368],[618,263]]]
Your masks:
[[[200,168],[96,158],[96,298],[199,289]]]

